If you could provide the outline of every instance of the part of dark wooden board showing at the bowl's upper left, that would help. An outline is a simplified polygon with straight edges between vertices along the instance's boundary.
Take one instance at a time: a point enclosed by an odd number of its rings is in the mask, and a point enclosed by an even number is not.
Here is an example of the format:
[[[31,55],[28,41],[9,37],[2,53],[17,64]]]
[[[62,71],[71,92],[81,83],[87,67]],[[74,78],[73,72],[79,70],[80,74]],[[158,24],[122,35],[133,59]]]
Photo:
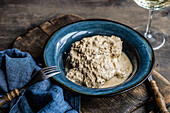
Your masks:
[[[73,14],[61,15],[57,18],[53,18],[41,24],[40,27],[31,29],[25,35],[19,36],[16,41],[14,41],[13,48],[29,52],[35,60],[40,60],[43,56],[44,45],[54,31],[82,19],[83,18]]]

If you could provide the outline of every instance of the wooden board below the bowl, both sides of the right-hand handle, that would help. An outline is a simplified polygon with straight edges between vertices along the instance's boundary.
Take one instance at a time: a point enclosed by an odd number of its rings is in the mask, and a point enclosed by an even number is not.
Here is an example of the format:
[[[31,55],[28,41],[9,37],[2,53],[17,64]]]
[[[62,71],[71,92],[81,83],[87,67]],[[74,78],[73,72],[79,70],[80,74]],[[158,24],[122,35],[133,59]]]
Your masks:
[[[157,85],[165,99],[166,104],[169,105],[170,83],[155,70],[153,71],[152,75],[154,80],[157,81]],[[146,106],[147,109],[145,109]],[[152,92],[150,91],[150,86],[148,85],[147,81],[133,90],[120,95],[115,95],[113,97],[96,98],[82,96],[81,110],[83,113],[138,113],[138,108],[140,108],[140,112],[157,111],[152,98]]]

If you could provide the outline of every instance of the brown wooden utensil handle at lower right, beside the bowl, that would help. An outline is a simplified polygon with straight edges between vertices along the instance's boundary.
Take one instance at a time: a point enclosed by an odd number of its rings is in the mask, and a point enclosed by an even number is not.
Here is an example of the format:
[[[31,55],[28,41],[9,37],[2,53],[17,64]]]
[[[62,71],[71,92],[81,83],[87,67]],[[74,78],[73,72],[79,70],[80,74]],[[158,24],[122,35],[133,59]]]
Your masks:
[[[158,89],[158,86],[156,85],[156,82],[154,80],[151,80],[150,85],[151,85],[151,89],[153,90],[153,93],[154,93],[154,96],[155,96],[156,104],[157,104],[157,106],[160,110],[159,112],[160,113],[169,113],[167,108],[166,108],[164,98],[161,95],[161,93],[159,92],[159,89]]]

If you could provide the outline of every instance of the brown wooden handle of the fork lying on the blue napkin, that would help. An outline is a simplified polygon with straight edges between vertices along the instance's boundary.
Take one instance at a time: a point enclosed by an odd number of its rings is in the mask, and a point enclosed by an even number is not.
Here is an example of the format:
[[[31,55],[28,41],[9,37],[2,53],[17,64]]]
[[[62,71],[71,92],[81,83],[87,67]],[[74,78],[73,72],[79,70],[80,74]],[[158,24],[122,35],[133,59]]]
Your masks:
[[[11,101],[17,96],[19,96],[18,89],[15,89],[14,91],[11,91],[10,93],[6,93],[3,97],[0,97],[0,107],[2,107],[5,103],[7,103],[8,101]]]

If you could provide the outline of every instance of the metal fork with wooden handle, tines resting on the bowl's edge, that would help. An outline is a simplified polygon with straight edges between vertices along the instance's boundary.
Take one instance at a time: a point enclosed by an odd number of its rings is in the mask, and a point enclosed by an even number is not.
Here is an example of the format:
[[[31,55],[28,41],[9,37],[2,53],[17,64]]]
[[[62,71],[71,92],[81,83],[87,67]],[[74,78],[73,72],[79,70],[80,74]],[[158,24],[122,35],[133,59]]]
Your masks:
[[[31,80],[22,88],[20,89],[15,89],[14,91],[11,91],[10,93],[6,93],[3,97],[0,97],[0,107],[2,107],[5,103],[8,101],[11,101],[15,97],[19,96],[21,92],[23,92],[25,89],[30,87],[31,85],[43,81],[49,77],[52,77],[54,75],[59,74],[59,70],[56,66],[51,66],[51,67],[45,67],[40,69],[38,72],[36,72]]]

